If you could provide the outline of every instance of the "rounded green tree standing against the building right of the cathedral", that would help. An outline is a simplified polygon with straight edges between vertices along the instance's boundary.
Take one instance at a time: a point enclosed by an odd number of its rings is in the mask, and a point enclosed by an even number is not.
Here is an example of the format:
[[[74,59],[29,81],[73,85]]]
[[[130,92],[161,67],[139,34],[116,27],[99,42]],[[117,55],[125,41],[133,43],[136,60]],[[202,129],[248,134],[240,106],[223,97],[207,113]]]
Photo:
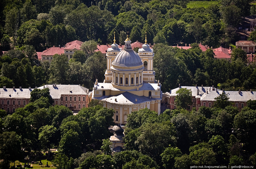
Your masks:
[[[175,104],[177,108],[186,109],[192,104],[192,91],[186,88],[180,88],[176,91]]]

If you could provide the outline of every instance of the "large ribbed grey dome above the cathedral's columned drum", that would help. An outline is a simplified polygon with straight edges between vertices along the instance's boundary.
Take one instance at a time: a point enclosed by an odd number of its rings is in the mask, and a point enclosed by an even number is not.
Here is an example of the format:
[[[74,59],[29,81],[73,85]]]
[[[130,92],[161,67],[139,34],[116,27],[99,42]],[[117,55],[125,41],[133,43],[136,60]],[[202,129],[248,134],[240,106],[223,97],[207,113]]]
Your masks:
[[[142,65],[142,62],[140,56],[133,50],[123,50],[116,55],[112,65],[121,67],[135,67]]]

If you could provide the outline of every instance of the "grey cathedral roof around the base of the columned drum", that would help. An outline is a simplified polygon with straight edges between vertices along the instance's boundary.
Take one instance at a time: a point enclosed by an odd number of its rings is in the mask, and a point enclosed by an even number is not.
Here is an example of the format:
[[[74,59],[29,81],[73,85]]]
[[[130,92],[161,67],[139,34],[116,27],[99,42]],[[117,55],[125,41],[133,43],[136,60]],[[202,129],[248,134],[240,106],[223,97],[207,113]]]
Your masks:
[[[137,91],[137,89],[126,90],[126,89],[118,89],[114,88],[112,83],[98,83],[94,85],[94,88],[97,89],[107,89],[107,90],[116,90],[116,91]],[[127,86],[128,87],[128,86]],[[142,87],[139,88],[140,90],[158,90],[160,88],[157,83],[143,83]]]

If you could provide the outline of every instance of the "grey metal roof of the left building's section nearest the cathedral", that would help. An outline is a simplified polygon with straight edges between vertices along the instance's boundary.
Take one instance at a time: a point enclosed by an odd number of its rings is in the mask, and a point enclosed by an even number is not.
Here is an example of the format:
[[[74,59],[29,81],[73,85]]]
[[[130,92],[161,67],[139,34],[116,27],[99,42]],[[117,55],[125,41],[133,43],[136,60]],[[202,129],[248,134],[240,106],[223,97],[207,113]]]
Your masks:
[[[56,87],[53,87],[53,85],[44,85],[39,87],[39,89],[43,88],[49,88],[50,89],[50,95],[53,99],[59,99],[60,95],[87,95],[89,92],[88,88],[84,88],[80,85],[56,85]]]

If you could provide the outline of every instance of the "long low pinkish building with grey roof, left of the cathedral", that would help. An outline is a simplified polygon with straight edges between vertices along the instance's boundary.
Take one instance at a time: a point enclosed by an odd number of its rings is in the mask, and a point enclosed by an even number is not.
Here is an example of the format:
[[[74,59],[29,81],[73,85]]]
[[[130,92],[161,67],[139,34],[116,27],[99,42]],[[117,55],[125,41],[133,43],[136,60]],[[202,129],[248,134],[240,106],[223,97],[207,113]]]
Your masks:
[[[44,85],[38,89],[50,89],[53,105],[63,105],[72,111],[88,107],[88,88],[80,85]],[[30,93],[34,88],[0,88],[0,109],[14,113],[15,109],[25,107],[30,101]]]

